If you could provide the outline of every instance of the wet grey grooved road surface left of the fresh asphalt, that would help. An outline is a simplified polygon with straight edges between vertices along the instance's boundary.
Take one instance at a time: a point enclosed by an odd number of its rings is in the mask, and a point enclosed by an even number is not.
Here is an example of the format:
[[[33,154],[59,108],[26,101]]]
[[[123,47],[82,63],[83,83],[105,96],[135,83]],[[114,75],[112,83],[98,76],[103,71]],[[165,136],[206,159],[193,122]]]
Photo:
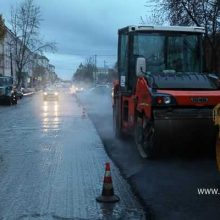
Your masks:
[[[25,97],[0,106],[0,219],[145,219],[130,186],[108,158],[74,97]],[[116,204],[103,205],[104,165],[111,163]]]

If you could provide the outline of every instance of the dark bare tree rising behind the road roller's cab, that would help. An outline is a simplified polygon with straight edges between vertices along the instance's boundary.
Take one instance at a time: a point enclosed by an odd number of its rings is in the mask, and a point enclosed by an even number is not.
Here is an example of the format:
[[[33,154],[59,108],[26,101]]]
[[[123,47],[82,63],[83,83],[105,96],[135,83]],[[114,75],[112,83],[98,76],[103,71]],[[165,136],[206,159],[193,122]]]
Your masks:
[[[151,0],[152,1],[152,0]],[[156,1],[156,14],[163,15],[171,25],[195,25],[205,28],[204,51],[210,60],[206,70],[217,72],[220,50],[219,0],[164,0]]]

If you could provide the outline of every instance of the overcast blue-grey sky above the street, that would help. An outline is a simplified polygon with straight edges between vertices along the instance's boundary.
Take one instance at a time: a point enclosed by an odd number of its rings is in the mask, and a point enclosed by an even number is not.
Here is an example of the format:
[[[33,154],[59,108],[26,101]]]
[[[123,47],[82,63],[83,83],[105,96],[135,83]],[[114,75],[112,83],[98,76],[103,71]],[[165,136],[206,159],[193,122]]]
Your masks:
[[[0,0],[0,14],[9,20],[11,5],[22,0]],[[35,0],[43,21],[41,35],[57,43],[54,54],[47,53],[57,74],[70,79],[79,64],[97,55],[97,64],[112,67],[116,62],[117,30],[139,25],[147,14],[146,0]]]

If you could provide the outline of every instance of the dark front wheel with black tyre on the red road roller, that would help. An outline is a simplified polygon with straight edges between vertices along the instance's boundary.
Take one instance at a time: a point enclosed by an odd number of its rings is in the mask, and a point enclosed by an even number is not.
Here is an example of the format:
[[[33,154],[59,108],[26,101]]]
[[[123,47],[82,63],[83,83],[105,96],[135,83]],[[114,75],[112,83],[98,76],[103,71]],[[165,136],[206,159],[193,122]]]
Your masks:
[[[135,143],[142,158],[154,156],[154,126],[146,117],[138,117],[135,125]]]

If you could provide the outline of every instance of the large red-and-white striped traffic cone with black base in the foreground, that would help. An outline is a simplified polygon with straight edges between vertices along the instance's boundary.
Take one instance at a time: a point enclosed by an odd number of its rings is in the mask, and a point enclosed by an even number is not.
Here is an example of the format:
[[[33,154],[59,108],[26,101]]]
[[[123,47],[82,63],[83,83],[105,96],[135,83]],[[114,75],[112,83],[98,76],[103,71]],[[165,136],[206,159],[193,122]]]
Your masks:
[[[114,189],[112,185],[112,177],[110,171],[110,164],[105,164],[105,176],[102,188],[102,195],[96,198],[97,202],[118,202],[120,198],[114,195]]]

